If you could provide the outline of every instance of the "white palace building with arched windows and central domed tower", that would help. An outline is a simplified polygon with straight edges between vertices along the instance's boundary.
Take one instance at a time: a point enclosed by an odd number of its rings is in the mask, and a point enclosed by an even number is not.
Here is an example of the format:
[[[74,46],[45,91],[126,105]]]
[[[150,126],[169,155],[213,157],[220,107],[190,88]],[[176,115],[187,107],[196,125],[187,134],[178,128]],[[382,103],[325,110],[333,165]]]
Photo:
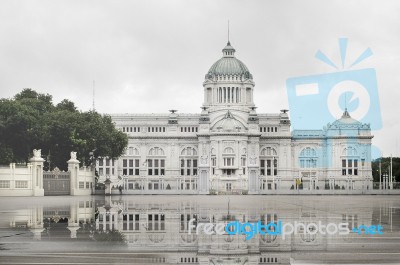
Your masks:
[[[222,53],[200,114],[111,115],[129,144],[118,160],[97,161],[100,180],[125,194],[372,189],[368,124],[345,111],[323,129],[291,131],[287,110],[256,112],[252,74],[229,42]]]

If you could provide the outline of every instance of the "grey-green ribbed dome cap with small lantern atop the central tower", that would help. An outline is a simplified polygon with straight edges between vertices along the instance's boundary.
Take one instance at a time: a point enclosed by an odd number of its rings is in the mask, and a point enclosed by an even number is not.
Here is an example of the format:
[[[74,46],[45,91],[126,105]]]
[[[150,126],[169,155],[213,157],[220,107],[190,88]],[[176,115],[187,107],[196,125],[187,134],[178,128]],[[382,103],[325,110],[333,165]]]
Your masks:
[[[215,76],[238,76],[244,79],[253,79],[249,69],[246,65],[235,58],[235,49],[231,46],[230,42],[222,50],[223,57],[216,61],[208,70],[206,78],[213,78]]]

